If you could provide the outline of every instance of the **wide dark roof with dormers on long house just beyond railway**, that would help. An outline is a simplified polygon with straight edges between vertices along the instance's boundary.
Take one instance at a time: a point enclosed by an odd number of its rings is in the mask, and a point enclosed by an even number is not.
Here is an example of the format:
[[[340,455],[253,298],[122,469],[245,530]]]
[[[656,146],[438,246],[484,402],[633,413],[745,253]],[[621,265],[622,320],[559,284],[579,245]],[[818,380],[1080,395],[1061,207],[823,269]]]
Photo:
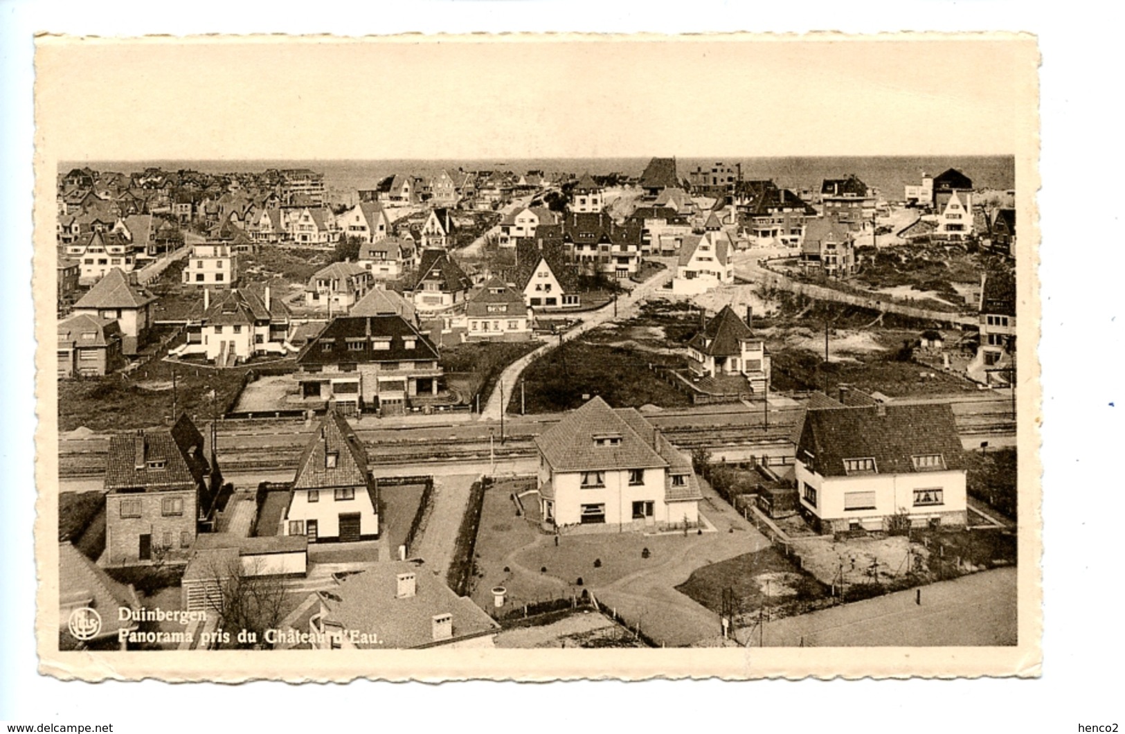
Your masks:
[[[406,339],[414,348],[406,348]],[[389,340],[389,349],[372,349]],[[362,349],[353,349],[353,344]],[[438,359],[438,349],[408,321],[397,315],[336,316],[297,353],[298,365],[338,365],[403,359]]]

